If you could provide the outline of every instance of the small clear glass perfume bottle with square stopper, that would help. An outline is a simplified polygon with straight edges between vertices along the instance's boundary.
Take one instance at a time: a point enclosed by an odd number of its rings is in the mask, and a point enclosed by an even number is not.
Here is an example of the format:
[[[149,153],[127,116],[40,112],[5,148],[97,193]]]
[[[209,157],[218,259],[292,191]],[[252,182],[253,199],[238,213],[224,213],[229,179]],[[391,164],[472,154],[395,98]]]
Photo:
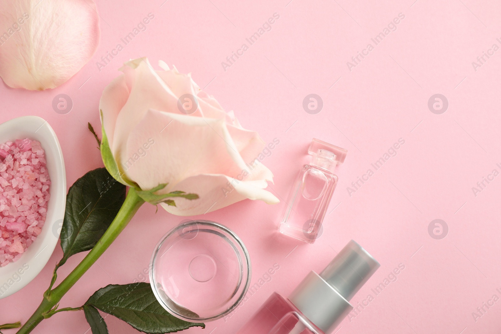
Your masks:
[[[308,243],[315,242],[338,182],[334,169],[344,162],[347,152],[344,148],[313,139],[308,149],[312,161],[303,166],[294,184],[280,222],[280,232]]]

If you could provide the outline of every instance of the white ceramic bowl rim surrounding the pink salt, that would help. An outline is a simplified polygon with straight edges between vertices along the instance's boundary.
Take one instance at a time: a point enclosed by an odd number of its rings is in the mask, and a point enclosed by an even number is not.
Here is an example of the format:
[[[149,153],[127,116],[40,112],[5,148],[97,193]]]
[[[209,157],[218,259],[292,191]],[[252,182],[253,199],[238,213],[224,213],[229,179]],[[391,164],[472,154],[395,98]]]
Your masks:
[[[0,299],[21,290],[49,261],[61,232],[66,206],[66,170],[59,140],[49,123],[38,116],[23,116],[0,124],[0,143],[29,138],[45,150],[51,180],[47,217],[42,233],[16,262],[0,267]]]

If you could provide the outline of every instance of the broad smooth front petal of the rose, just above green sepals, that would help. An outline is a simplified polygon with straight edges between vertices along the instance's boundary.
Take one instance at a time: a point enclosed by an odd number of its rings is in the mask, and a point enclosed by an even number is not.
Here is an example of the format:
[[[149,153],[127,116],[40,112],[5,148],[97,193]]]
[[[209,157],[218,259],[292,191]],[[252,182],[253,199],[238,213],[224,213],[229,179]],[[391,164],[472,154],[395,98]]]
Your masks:
[[[178,182],[194,175],[236,177],[247,168],[224,120],[156,110],[149,110],[128,134],[127,150],[115,158],[143,190],[169,183],[159,193],[172,191]]]

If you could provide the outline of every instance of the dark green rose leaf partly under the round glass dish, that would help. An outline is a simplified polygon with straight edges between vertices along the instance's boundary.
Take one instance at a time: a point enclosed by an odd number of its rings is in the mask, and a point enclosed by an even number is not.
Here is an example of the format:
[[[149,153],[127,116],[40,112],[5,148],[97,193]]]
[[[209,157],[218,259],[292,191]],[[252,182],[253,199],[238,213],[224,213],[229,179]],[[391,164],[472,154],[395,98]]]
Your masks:
[[[85,302],[124,320],[145,333],[172,333],[205,324],[187,322],[167,312],[158,302],[148,283],[110,284],[100,288]]]

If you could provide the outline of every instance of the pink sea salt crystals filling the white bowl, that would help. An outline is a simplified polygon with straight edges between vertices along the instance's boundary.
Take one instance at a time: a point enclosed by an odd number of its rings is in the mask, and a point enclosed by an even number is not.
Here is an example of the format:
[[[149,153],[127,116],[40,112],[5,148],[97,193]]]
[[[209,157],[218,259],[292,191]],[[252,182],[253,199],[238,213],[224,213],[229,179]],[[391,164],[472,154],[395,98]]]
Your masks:
[[[17,261],[42,232],[50,184],[39,142],[0,144],[0,266]]]

